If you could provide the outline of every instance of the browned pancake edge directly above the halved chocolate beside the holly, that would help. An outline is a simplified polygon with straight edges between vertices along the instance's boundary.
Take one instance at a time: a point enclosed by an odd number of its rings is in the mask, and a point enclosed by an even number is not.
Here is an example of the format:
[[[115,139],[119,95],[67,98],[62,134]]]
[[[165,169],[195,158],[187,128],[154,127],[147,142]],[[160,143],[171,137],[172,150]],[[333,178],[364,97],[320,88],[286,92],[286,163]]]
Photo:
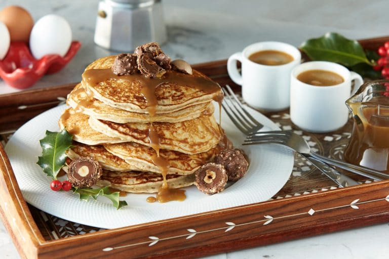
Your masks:
[[[104,146],[89,146],[79,142],[73,142],[72,147],[67,151],[67,156],[74,160],[79,156],[93,157],[103,169],[111,171],[131,171],[139,168],[130,165],[124,159],[108,152]]]

